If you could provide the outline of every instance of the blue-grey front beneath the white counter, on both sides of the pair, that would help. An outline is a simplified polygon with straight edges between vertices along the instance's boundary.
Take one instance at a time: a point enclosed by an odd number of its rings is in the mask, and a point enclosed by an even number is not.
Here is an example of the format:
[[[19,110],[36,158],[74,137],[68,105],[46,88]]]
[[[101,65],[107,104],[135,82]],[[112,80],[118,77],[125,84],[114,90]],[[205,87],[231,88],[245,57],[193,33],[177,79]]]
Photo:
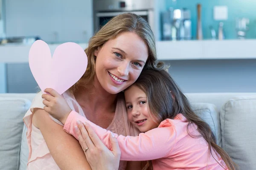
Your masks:
[[[169,73],[186,93],[256,93],[256,59],[172,60]],[[35,93],[28,63],[7,64],[8,92]],[[17,88],[18,87],[18,88]]]

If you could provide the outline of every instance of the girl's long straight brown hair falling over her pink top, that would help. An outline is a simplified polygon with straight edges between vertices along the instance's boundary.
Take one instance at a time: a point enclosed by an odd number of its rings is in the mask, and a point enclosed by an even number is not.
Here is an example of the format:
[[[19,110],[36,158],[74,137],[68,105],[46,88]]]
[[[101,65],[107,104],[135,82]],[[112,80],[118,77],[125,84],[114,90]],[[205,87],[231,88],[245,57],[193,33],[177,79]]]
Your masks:
[[[189,135],[195,138],[204,137],[209,145],[209,154],[212,154],[212,151],[215,150],[229,170],[236,170],[236,165],[230,156],[216,144],[215,135],[212,133],[210,126],[192,111],[188,99],[167,71],[143,71],[134,85],[147,95],[151,117],[158,124],[165,119],[174,119],[177,114],[182,113],[189,122],[188,126],[197,125],[201,134],[200,136]],[[143,170],[147,170],[148,167],[152,169],[151,161],[148,161]]]

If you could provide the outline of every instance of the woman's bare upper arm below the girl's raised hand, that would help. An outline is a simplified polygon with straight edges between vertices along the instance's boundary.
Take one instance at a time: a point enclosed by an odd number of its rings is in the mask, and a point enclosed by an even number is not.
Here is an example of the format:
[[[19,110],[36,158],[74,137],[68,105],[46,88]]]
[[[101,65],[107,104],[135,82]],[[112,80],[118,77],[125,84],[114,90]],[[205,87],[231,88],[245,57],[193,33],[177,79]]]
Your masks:
[[[34,109],[33,120],[41,130],[49,151],[61,170],[90,170],[79,142],[63,131],[43,109]]]

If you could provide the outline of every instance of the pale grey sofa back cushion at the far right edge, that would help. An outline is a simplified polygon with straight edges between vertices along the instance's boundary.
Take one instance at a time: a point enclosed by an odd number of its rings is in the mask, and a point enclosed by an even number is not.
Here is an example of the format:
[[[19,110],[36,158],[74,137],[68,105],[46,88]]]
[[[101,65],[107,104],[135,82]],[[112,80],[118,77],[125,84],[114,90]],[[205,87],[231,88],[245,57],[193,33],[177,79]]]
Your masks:
[[[256,96],[238,96],[221,109],[222,147],[240,170],[256,167]]]

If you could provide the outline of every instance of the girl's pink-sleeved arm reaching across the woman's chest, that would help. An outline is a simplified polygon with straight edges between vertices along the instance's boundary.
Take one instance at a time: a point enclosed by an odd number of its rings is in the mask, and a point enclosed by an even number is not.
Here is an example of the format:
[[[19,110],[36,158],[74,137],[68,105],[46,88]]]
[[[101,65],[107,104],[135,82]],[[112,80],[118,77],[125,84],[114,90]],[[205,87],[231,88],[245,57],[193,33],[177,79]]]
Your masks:
[[[102,142],[111,150],[109,135],[111,131],[103,129],[88,121],[84,116],[71,111],[64,125],[64,130],[76,137],[75,126],[77,120],[88,123]],[[121,160],[145,161],[166,157],[176,141],[176,133],[172,126],[157,127],[138,136],[122,136],[114,133],[121,150]]]

